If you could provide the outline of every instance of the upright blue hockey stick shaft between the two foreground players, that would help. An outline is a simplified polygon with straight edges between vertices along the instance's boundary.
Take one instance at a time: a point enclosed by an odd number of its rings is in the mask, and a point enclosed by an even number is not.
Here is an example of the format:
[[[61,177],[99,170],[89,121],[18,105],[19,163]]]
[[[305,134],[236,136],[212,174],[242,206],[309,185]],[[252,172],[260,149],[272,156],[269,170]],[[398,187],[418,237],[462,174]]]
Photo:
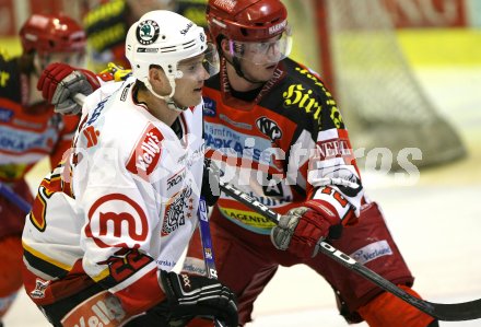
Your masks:
[[[200,240],[202,243],[203,261],[206,262],[207,276],[209,278],[218,279],[218,270],[215,269],[214,252],[212,248],[209,218],[207,214],[207,203],[203,196],[200,196],[199,198],[199,208],[197,209],[197,215],[199,218],[199,232],[200,232]],[[223,327],[224,324],[218,319],[214,319],[214,326]]]

